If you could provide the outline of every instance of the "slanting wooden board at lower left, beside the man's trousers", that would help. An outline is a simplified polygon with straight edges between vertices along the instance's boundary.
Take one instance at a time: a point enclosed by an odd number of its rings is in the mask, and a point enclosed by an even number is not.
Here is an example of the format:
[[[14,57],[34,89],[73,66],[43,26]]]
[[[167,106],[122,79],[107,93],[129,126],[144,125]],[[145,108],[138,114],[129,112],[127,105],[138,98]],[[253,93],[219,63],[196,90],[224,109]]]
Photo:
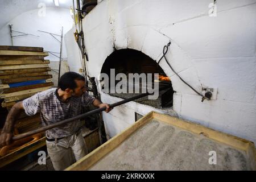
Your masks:
[[[7,154],[6,156],[3,156],[2,158],[0,158],[0,168],[6,166],[7,164],[10,164],[11,162],[14,162],[19,158],[22,158],[27,154],[30,154],[32,151],[35,151],[38,148],[41,148],[45,145],[46,145],[46,137],[43,137],[29,144],[28,146],[24,146],[23,148],[20,148],[18,151],[14,151],[14,152],[11,152],[10,154]]]

